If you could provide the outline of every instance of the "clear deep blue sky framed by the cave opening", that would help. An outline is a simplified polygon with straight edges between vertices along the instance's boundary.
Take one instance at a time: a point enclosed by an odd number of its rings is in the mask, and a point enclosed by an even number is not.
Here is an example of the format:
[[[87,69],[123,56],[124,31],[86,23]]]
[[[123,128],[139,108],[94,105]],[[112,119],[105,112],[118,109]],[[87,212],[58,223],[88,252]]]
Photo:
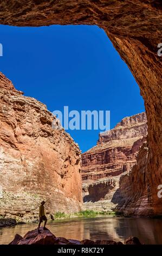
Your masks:
[[[139,87],[105,32],[96,26],[0,26],[1,71],[49,111],[110,110],[111,128],[145,111]],[[98,130],[68,130],[84,152]]]

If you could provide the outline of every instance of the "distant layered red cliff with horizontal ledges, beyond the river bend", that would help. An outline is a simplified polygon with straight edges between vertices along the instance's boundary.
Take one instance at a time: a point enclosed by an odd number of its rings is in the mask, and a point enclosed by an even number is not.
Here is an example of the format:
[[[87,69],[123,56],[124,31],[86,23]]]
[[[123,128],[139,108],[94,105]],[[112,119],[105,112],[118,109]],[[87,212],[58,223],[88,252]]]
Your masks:
[[[129,173],[137,162],[139,149],[146,141],[146,122],[145,112],[126,117],[114,129],[100,133],[98,144],[82,154],[85,209],[112,211],[124,204],[119,180],[121,174]]]

